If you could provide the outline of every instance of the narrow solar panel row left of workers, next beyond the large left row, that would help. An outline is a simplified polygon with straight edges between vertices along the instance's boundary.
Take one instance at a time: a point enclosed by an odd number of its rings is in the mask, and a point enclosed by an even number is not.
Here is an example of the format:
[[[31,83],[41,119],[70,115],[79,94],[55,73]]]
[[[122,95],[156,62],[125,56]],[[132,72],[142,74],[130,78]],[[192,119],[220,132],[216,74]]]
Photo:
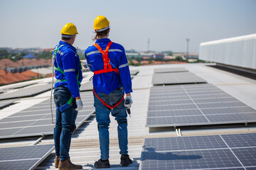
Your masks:
[[[35,96],[51,89],[51,84],[36,84],[10,93],[0,94],[0,100]]]

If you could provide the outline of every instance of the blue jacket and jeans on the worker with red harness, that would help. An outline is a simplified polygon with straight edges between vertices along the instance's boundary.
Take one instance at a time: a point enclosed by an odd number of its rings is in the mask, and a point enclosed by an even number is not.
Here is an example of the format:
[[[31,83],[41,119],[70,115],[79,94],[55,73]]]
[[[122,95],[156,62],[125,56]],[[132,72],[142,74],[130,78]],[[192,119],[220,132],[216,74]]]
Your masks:
[[[106,52],[110,39],[102,38],[96,40],[95,43],[100,46],[101,50]],[[97,47],[95,47],[95,45],[92,45],[85,50],[87,64],[90,70],[94,72],[94,106],[100,138],[100,158],[103,160],[109,159],[110,157],[110,135],[108,130],[110,125],[110,113],[115,117],[115,120],[117,120],[118,123],[119,154],[128,153],[127,111],[124,107],[123,97],[124,92],[126,94],[132,92],[132,79],[124,47],[112,42],[107,55],[108,59],[105,57],[105,60],[110,60],[109,63],[112,67],[110,72],[104,72],[106,69],[104,69],[103,54]],[[100,73],[98,74],[98,72]],[[119,104],[116,105],[117,103]],[[112,108],[110,108],[110,106]]]

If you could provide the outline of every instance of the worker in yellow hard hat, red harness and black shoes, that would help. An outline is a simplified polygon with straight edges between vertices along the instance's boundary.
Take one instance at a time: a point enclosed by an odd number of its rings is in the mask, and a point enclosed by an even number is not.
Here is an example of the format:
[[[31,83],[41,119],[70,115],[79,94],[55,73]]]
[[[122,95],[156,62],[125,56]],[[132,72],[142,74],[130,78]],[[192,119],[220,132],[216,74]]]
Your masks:
[[[85,57],[90,70],[94,73],[94,106],[100,138],[100,159],[94,165],[97,169],[110,167],[110,113],[118,123],[120,164],[132,164],[127,147],[127,111],[129,113],[132,106],[132,80],[127,57],[124,47],[108,38],[110,21],[105,16],[97,16],[93,28],[96,42],[85,50]]]

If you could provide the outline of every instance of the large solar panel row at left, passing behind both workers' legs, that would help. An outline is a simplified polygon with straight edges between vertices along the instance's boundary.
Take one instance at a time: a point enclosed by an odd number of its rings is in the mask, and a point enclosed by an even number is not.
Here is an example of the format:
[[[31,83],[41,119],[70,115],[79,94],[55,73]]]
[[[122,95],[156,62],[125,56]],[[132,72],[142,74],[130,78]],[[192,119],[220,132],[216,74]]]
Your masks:
[[[83,109],[78,113],[77,128],[95,111],[92,91],[80,93]],[[53,103],[55,116],[55,104]],[[53,120],[55,123],[55,119]],[[10,115],[0,120],[0,139],[11,137],[27,137],[53,135],[54,124],[51,123],[50,99]]]

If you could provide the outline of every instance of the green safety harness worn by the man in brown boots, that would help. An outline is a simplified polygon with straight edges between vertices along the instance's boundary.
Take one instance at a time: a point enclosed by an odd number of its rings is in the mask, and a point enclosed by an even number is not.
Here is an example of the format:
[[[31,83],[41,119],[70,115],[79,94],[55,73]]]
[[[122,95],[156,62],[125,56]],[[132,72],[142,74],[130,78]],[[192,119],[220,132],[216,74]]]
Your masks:
[[[54,52],[53,52],[54,59],[55,59],[55,56],[56,56],[58,50],[60,49],[60,47],[63,47],[63,45],[60,45],[59,47],[58,46],[55,47]],[[56,64],[57,64],[57,67],[55,67],[55,70],[60,71],[65,76],[63,70],[60,69],[60,67],[58,66],[58,62],[56,62]],[[80,62],[80,68],[82,69],[81,62]],[[79,79],[79,72],[78,72],[78,76],[77,76],[77,80],[78,79]],[[57,79],[57,82],[62,82],[62,81],[66,81],[66,79]],[[80,86],[80,84],[81,84],[81,82],[78,80],[78,86]],[[73,101],[73,97],[70,96],[70,99],[68,100],[67,103],[65,103],[63,106],[60,106],[60,108],[58,108],[56,106],[56,108],[58,109],[58,111],[60,111],[62,113],[63,111],[67,110],[68,108],[70,108],[72,106],[72,101]]]

